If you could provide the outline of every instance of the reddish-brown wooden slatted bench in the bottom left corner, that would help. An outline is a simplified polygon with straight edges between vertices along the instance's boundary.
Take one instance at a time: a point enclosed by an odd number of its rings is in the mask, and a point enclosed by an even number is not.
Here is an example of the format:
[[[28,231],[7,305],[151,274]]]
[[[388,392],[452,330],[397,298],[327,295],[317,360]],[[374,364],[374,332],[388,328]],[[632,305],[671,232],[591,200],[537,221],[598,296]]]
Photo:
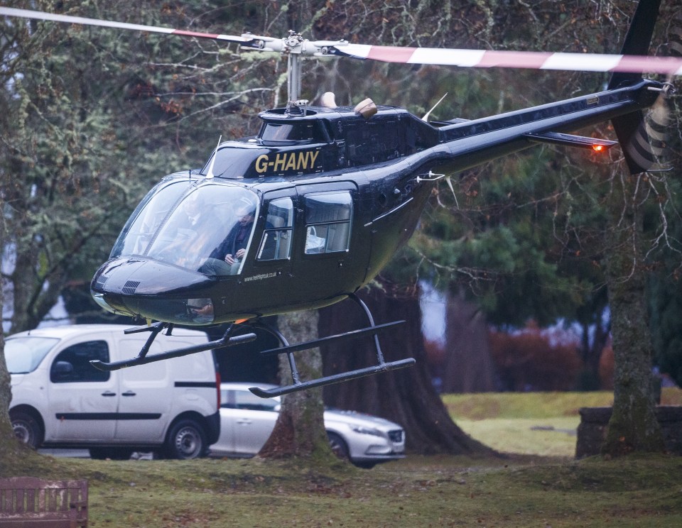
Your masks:
[[[87,527],[87,480],[0,478],[0,527]]]

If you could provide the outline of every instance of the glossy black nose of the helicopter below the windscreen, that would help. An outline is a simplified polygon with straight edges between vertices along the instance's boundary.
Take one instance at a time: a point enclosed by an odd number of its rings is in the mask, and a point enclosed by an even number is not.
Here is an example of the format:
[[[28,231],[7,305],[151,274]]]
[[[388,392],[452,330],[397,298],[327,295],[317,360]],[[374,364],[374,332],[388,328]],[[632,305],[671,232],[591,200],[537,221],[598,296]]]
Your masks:
[[[210,280],[201,273],[155,260],[114,258],[90,283],[100,307],[114,314],[176,324],[210,324],[213,304]]]

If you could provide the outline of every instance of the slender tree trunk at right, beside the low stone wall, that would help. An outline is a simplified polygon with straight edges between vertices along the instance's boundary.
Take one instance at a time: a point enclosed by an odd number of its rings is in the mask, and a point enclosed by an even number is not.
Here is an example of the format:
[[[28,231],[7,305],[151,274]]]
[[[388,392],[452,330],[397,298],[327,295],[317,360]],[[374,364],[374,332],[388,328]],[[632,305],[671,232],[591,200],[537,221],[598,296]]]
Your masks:
[[[632,451],[664,451],[652,391],[651,337],[646,321],[642,253],[642,204],[646,175],[613,178],[609,207],[612,250],[607,281],[615,356],[613,413],[602,453],[620,456]]]

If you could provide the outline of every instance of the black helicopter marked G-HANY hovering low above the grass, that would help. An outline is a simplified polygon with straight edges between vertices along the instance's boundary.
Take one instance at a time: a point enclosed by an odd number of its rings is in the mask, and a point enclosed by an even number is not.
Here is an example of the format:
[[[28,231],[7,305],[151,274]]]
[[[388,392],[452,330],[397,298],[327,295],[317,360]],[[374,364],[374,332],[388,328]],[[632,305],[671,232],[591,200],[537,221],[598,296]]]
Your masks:
[[[620,143],[633,174],[656,163],[643,110],[671,93],[669,82],[642,72],[682,75],[682,60],[646,57],[661,0],[640,0],[620,55],[392,48],[345,40],[310,42],[291,31],[277,39],[215,35],[156,26],[0,7],[0,15],[133,31],[212,38],[244,50],[271,50],[288,58],[288,103],[261,112],[256,136],[218,142],[200,170],[163,177],[123,227],[91,292],[114,314],[148,321],[126,332],[150,332],[139,356],[92,361],[116,370],[198,351],[236,346],[264,329],[286,354],[293,383],[261,397],[288,394],[413,365],[384,361],[378,334],[404,321],[375,324],[357,292],[367,285],[416,229],[434,182],[488,160],[548,143],[603,152]],[[325,94],[318,106],[300,99],[305,55],[457,65],[537,67],[612,72],[602,92],[482,119],[428,120],[406,109],[374,104],[337,106]],[[430,113],[430,112],[429,112]],[[612,121],[618,141],[573,131]],[[289,344],[264,317],[351,299],[367,326],[307,343]],[[148,356],[159,332],[177,326],[229,323],[221,339]],[[244,333],[246,332],[246,333]],[[294,353],[330,341],[372,336],[377,364],[301,380]]]

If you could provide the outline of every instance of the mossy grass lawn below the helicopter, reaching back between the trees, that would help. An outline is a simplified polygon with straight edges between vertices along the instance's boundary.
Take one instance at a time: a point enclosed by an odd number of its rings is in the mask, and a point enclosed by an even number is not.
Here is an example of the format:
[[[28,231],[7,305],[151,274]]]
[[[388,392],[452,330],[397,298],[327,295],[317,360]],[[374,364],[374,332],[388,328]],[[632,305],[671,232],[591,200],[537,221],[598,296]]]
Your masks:
[[[87,478],[91,528],[682,526],[681,457],[573,460],[578,422],[567,409],[583,407],[578,396],[443,397],[465,431],[507,453],[500,458],[411,455],[361,470],[335,461],[36,456],[25,474]],[[465,404],[476,417],[463,417]]]

